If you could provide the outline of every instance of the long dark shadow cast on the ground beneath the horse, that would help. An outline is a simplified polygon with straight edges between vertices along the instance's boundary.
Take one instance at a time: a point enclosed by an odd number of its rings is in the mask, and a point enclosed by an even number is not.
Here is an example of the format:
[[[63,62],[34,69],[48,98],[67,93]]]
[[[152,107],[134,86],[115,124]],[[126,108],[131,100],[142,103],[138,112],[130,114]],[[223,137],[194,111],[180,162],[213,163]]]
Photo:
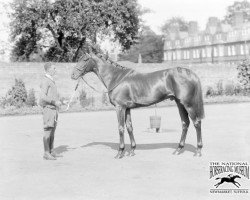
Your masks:
[[[97,146],[97,145],[104,145],[107,147],[110,147],[113,150],[118,150],[119,144],[118,143],[112,143],[112,142],[91,142],[89,144],[81,146],[82,148],[91,147],[91,146]],[[177,149],[179,143],[156,143],[156,144],[137,144],[136,149],[137,150],[152,150],[152,149]],[[126,151],[130,150],[130,145],[125,145]],[[195,146],[191,144],[185,144],[185,147],[180,152],[184,153],[185,151],[189,151],[192,153],[196,152]]]

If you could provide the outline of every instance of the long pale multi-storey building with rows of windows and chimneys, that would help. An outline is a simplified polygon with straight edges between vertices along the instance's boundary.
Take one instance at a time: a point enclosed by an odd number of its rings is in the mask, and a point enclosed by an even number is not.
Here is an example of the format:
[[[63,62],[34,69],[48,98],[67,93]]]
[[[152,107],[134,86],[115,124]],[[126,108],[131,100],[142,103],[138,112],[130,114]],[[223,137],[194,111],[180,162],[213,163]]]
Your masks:
[[[164,41],[163,60],[169,64],[234,63],[249,57],[250,22],[242,12],[235,13],[232,25],[210,17],[204,31],[191,21],[187,32],[172,31]]]

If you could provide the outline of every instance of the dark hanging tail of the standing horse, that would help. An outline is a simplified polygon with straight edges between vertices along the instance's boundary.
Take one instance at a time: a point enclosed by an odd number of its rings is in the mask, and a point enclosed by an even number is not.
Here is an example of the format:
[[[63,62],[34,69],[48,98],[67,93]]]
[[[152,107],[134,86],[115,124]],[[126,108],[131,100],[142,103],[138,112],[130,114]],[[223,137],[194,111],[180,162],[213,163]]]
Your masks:
[[[197,83],[196,83],[195,93],[193,96],[193,105],[194,105],[194,112],[196,115],[196,119],[201,120],[205,117],[205,112],[203,105],[201,82],[198,77],[196,78],[197,78]]]

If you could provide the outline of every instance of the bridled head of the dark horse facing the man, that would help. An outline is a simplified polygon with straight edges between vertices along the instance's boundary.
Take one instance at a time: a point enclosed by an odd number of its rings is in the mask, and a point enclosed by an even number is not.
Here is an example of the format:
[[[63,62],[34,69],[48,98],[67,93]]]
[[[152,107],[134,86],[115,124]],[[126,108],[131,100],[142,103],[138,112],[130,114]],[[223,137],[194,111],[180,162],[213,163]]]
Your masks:
[[[77,80],[79,77],[93,71],[95,66],[94,59],[89,54],[84,54],[74,67],[71,78]]]

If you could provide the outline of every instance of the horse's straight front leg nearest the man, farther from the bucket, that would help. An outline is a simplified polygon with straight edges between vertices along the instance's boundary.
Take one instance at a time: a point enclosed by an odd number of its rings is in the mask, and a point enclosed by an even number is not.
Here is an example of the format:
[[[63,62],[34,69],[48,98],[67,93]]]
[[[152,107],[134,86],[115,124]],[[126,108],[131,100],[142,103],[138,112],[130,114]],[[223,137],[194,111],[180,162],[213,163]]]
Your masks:
[[[121,106],[116,106],[116,114],[118,119],[118,130],[120,136],[120,145],[118,154],[115,158],[122,158],[124,156],[125,144],[124,144],[124,124],[125,124],[125,111],[126,109]]]

